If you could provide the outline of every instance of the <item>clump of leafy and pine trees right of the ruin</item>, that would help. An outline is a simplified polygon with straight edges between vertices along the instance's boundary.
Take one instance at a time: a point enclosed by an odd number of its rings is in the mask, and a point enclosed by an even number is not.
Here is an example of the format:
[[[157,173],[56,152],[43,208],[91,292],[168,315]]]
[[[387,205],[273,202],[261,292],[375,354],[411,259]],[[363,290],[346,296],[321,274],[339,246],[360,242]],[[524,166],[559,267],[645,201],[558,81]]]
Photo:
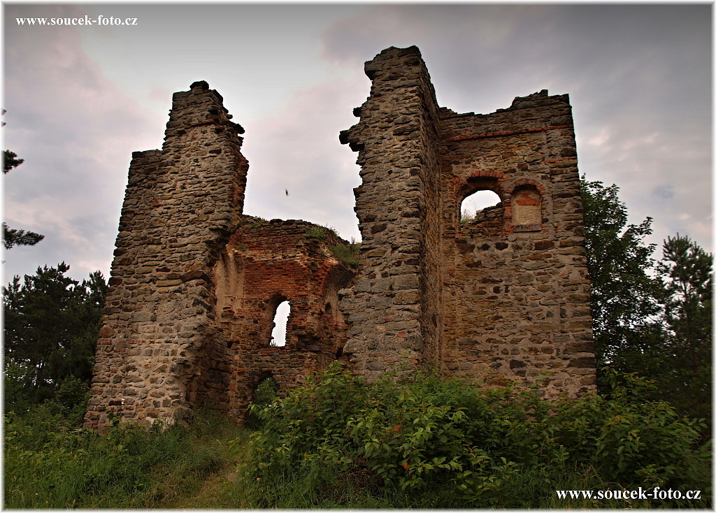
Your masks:
[[[599,390],[609,365],[653,380],[648,399],[710,419],[712,255],[677,234],[654,265],[652,220],[628,225],[619,187],[583,177],[581,196]]]

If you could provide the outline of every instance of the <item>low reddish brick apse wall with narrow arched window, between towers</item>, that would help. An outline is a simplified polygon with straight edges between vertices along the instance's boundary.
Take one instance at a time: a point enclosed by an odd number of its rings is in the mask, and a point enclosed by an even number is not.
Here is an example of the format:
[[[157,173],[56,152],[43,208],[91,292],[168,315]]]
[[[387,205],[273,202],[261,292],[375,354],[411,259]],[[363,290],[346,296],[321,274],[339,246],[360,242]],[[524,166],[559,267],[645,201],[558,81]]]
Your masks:
[[[305,221],[245,216],[216,263],[216,310],[222,346],[205,358],[204,398],[241,419],[256,387],[274,378],[279,393],[309,371],[342,358],[347,326],[338,290],[354,270],[332,254],[346,245],[326,228]],[[288,301],[286,345],[272,346],[276,308]]]

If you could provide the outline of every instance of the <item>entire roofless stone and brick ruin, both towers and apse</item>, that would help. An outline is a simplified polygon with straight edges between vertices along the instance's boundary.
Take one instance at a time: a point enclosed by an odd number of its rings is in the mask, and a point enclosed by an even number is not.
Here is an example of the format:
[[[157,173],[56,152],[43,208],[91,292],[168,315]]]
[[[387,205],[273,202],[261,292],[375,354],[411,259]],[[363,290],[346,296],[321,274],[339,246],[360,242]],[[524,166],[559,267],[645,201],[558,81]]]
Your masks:
[[[416,47],[365,72],[370,96],[339,137],[361,166],[357,267],[331,230],[245,215],[243,129],[206,82],[173,95],[162,150],[132,154],[87,426],[203,406],[241,422],[263,379],[285,394],[336,360],[368,381],[429,363],[547,396],[594,389],[569,97],[458,114],[438,107]],[[480,190],[500,203],[462,220]]]

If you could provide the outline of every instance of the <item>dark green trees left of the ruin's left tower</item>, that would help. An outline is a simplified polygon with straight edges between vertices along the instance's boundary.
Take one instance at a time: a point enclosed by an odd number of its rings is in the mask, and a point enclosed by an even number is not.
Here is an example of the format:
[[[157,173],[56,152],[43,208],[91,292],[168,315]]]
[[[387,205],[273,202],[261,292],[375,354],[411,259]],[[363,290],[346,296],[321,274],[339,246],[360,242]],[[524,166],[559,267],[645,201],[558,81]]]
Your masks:
[[[48,399],[69,376],[92,378],[107,285],[99,271],[79,283],[67,270],[45,266],[3,288],[6,408]]]

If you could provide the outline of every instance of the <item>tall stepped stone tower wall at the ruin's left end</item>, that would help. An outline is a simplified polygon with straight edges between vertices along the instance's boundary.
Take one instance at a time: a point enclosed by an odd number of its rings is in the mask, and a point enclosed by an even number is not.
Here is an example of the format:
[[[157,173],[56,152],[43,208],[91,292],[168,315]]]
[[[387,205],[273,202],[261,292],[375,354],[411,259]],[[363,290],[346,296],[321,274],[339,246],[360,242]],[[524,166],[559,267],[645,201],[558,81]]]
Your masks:
[[[161,151],[132,154],[86,424],[151,422],[190,406],[212,336],[208,275],[243,207],[243,129],[205,82],[175,93]]]

